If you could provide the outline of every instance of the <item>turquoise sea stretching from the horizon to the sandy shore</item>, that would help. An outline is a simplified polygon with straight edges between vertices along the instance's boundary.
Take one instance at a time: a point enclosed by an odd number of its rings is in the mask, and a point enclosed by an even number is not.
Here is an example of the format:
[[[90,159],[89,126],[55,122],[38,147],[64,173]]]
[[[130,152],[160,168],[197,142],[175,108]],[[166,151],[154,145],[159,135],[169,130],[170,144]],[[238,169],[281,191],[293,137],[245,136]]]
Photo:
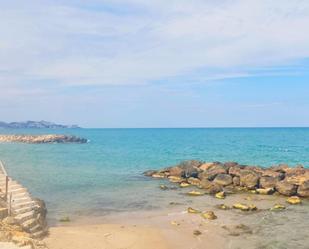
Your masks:
[[[72,129],[0,130],[0,133],[65,133],[87,144],[0,144],[9,174],[44,199],[49,217],[104,215],[160,208],[158,182],[147,169],[181,160],[237,161],[270,166],[309,166],[309,129]]]

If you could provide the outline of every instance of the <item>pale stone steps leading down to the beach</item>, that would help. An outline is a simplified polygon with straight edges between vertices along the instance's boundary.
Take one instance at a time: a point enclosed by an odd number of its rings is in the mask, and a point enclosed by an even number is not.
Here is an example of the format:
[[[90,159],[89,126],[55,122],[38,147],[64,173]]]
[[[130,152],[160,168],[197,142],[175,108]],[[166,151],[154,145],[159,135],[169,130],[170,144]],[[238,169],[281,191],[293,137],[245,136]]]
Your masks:
[[[40,206],[29,191],[17,181],[7,175],[3,163],[0,161],[0,198],[7,203],[9,215],[32,238],[41,238],[45,234],[45,225],[38,212]]]

